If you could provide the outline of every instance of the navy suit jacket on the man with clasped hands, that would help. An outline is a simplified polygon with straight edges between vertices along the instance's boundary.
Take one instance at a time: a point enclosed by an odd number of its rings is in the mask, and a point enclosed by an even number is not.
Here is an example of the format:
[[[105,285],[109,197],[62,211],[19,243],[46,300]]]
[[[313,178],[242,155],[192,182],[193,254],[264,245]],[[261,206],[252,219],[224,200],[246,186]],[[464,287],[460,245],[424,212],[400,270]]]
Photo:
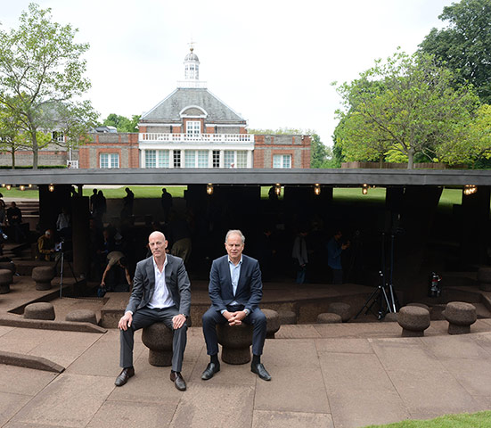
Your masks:
[[[258,307],[263,297],[261,270],[257,259],[242,254],[241,276],[237,291],[233,295],[232,277],[228,264],[228,255],[213,260],[209,272],[209,298],[214,309],[226,310],[233,300],[251,312]]]

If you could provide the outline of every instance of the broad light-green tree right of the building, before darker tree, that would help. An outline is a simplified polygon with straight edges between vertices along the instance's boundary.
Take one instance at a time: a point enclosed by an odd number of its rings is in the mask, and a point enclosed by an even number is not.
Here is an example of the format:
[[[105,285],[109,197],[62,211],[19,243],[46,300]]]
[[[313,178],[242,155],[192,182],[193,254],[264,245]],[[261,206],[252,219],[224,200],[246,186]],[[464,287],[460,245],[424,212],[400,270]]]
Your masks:
[[[397,151],[408,169],[416,154],[430,160],[438,146],[454,142],[479,104],[471,87],[456,85],[453,73],[430,55],[400,51],[338,92],[344,110],[337,111],[336,144],[347,161],[381,161]]]

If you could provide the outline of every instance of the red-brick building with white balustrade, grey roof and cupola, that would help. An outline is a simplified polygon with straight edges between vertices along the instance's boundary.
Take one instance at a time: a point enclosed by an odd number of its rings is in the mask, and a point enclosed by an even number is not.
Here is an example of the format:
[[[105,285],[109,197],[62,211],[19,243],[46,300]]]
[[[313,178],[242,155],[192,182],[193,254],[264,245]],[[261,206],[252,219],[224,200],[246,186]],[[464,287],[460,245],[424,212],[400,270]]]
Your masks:
[[[70,154],[59,147],[39,152],[39,165],[82,169],[112,168],[309,168],[310,136],[252,135],[247,121],[223,103],[200,80],[196,53],[184,58],[184,80],[174,92],[143,113],[138,133],[96,128],[90,142]],[[29,165],[19,152],[18,165]],[[0,155],[0,165],[12,161]]]

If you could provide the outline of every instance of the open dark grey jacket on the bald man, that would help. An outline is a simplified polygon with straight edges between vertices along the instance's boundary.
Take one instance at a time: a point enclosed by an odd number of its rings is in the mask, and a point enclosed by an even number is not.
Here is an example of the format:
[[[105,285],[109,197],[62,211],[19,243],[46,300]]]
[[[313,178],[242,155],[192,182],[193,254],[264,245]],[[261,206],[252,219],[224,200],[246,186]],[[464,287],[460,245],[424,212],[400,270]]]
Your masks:
[[[189,317],[191,308],[191,283],[184,268],[184,261],[170,254],[166,255],[168,263],[165,268],[166,285],[179,313]],[[148,305],[155,290],[155,271],[153,256],[144,259],[136,265],[133,291],[129,298],[127,311],[136,310]]]

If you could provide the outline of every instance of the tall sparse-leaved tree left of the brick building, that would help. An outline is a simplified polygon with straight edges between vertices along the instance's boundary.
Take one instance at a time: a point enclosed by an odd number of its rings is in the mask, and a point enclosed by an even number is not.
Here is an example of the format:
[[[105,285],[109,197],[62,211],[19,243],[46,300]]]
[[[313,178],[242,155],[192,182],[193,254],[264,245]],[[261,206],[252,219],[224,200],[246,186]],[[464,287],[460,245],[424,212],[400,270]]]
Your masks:
[[[76,44],[77,30],[53,22],[50,12],[29,4],[18,29],[0,30],[0,104],[19,119],[34,169],[39,150],[51,142],[39,140],[39,131],[48,133],[60,124],[57,113],[78,115],[70,117],[72,141],[86,133],[95,117],[91,103],[77,101],[90,87],[81,59],[88,45]],[[64,128],[69,129],[68,122]]]

